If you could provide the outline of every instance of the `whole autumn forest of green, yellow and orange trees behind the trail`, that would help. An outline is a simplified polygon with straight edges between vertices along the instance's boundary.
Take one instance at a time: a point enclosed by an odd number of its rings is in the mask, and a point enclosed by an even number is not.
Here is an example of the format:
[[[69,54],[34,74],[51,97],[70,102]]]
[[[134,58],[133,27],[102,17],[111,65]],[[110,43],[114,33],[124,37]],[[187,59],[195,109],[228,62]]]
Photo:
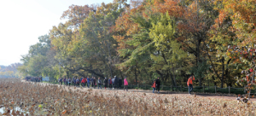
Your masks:
[[[38,38],[23,76],[127,77],[130,84],[241,87],[254,81],[255,0],[114,0],[71,5]],[[37,39],[37,38],[35,38]],[[252,80],[252,82],[250,81]]]

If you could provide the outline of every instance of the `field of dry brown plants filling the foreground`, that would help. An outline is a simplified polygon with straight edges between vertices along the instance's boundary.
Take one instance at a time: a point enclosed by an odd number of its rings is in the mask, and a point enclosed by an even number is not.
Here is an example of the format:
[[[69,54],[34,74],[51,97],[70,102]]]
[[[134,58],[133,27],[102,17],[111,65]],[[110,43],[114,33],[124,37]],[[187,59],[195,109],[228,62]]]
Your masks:
[[[254,102],[88,90],[0,79],[0,115],[254,115]],[[18,111],[12,110],[19,107]],[[9,113],[8,113],[9,112]]]

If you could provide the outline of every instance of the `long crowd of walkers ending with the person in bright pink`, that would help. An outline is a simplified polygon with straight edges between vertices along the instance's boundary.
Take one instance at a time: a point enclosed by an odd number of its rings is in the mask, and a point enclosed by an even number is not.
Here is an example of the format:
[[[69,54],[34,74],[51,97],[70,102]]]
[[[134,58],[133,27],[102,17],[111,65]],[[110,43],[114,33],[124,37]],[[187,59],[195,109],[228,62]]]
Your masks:
[[[74,85],[74,86],[79,86],[81,85],[82,87],[87,86],[88,88],[93,87],[94,89],[97,88],[101,88],[102,89],[102,85],[104,85],[105,90],[107,87],[109,87],[110,90],[112,89],[118,89],[121,87],[121,79],[117,78],[116,76],[114,76],[114,78],[105,78],[102,82],[101,78],[96,79],[95,77],[82,77],[82,78],[59,78],[58,82],[59,84],[64,84],[64,85]],[[128,82],[126,80],[126,77],[124,79],[124,90],[128,91]]]

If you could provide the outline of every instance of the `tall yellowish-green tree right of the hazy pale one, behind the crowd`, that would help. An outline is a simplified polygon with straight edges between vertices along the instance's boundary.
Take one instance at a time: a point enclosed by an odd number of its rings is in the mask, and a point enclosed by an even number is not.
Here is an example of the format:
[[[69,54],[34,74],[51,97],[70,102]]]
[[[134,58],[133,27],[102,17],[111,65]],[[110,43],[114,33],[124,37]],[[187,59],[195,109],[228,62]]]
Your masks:
[[[126,7],[125,1],[119,1],[102,3],[96,10],[90,11],[79,26],[78,36],[70,40],[70,49],[67,51],[71,56],[71,65],[67,67],[69,71],[80,75],[92,73],[101,78],[113,77],[117,43],[112,37],[112,26]]]

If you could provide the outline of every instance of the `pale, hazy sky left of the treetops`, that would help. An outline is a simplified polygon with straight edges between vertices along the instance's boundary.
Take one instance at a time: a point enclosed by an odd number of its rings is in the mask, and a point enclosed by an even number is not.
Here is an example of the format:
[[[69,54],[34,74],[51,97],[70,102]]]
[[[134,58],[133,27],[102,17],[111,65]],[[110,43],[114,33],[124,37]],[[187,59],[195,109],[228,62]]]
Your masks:
[[[20,62],[38,37],[49,33],[52,26],[64,22],[61,14],[72,4],[101,4],[113,0],[1,0],[0,65]]]

